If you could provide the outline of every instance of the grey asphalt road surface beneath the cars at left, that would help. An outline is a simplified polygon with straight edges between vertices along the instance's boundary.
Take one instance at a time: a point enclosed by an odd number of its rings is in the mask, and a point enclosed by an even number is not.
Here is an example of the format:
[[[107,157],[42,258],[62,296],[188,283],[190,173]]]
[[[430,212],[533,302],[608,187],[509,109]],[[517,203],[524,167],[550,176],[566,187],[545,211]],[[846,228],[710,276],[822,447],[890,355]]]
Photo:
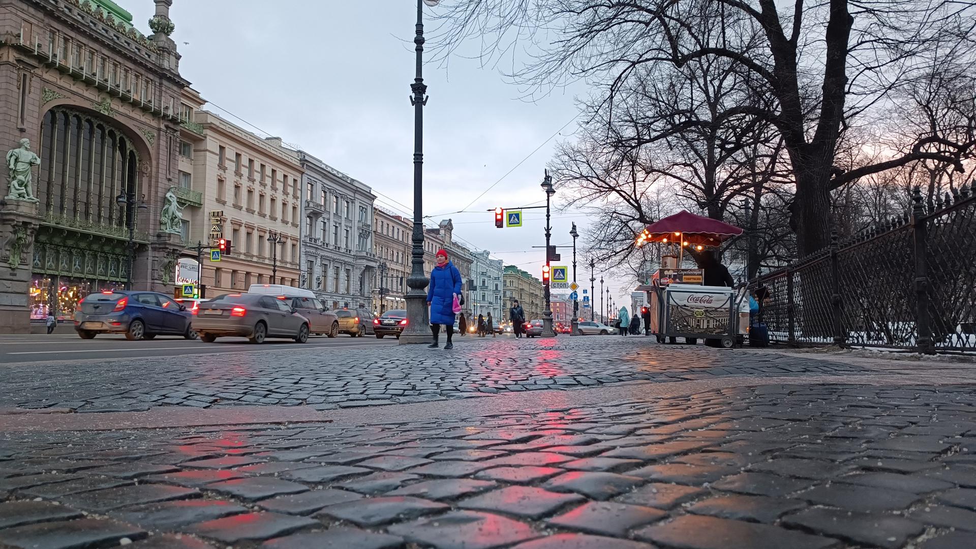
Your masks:
[[[158,336],[151,341],[129,341],[122,335],[100,335],[93,340],[80,339],[75,334],[0,335],[0,364],[72,359],[141,359],[176,357],[181,355],[215,355],[222,353],[263,353],[295,347],[350,349],[396,345],[395,338],[378,340],[375,337],[352,338],[341,335],[334,339],[312,336],[305,344],[287,339],[268,339],[262,345],[252,345],[243,337],[225,337],[215,343],[189,341],[182,337]]]

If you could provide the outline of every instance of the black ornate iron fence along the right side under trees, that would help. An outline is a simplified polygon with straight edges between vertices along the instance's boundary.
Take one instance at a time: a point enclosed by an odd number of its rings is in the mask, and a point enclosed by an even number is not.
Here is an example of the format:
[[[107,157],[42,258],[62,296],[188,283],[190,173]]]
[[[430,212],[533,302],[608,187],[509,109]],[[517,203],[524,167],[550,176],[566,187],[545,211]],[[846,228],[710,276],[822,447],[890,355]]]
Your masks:
[[[752,291],[770,341],[976,352],[976,195],[965,186],[789,267]]]

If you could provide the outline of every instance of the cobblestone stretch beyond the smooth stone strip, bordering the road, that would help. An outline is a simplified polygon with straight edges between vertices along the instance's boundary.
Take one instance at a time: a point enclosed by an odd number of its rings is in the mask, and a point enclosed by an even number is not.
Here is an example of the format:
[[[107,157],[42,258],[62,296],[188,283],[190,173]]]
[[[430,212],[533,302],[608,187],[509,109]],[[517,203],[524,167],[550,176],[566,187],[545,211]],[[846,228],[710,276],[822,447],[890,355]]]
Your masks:
[[[772,353],[659,346],[650,338],[561,337],[160,359],[30,362],[4,368],[0,407],[140,411],[153,406],[312,405],[319,410],[720,376],[851,375],[863,366]],[[478,395],[473,395],[478,396]]]

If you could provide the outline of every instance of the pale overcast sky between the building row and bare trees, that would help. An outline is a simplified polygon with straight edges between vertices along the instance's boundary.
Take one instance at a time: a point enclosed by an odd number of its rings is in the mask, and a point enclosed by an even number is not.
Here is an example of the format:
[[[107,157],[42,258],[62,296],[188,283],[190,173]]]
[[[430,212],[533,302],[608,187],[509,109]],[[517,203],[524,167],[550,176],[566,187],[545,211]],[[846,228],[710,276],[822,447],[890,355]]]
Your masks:
[[[149,32],[151,0],[116,1]],[[225,109],[260,128],[231,118],[255,133],[307,150],[372,187],[380,206],[412,216],[414,51],[405,40],[413,39],[415,2],[176,0],[171,18],[181,73],[212,102],[207,108]],[[545,254],[531,246],[545,244],[545,211],[527,211],[520,229],[495,229],[484,210],[545,200],[539,184],[546,162],[575,122],[468,204],[570,122],[574,94],[585,89],[526,103],[498,69],[463,57],[447,67],[427,64],[425,80],[424,215],[453,219],[456,236],[470,247],[541,276]],[[473,212],[451,213],[462,209]],[[572,222],[580,232],[588,223],[580,213],[556,214],[553,244],[571,243]],[[571,265],[572,249],[560,251],[560,263]],[[578,278],[589,286],[586,271]],[[600,273],[596,278],[598,293]],[[630,303],[629,288],[613,290],[617,303]]]

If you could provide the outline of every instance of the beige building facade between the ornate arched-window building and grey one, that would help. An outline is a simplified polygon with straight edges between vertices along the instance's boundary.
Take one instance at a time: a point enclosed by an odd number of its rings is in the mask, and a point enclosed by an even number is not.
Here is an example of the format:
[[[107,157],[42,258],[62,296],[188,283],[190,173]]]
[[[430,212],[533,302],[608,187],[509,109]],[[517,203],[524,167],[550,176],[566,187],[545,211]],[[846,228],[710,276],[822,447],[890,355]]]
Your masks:
[[[202,139],[184,136],[180,188],[202,193],[202,205],[183,209],[183,255],[201,251],[203,296],[251,284],[297,286],[302,166],[279,139],[262,139],[206,110],[194,119]],[[230,252],[211,261],[221,238]]]

